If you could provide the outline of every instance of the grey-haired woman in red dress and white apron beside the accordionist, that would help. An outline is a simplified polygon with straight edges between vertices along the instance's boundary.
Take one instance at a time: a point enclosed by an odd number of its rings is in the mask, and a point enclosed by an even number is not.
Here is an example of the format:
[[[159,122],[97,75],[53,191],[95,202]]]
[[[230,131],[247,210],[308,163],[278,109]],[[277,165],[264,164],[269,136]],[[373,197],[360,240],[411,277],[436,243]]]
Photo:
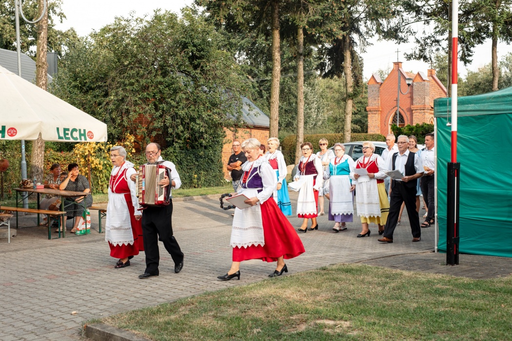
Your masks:
[[[119,259],[116,269],[130,266],[130,259],[144,251],[142,241],[142,214],[138,211],[137,186],[130,176],[136,173],[134,165],[126,161],[126,150],[121,146],[110,149],[114,166],[109,182],[109,204],[106,207],[105,241],[110,255]]]

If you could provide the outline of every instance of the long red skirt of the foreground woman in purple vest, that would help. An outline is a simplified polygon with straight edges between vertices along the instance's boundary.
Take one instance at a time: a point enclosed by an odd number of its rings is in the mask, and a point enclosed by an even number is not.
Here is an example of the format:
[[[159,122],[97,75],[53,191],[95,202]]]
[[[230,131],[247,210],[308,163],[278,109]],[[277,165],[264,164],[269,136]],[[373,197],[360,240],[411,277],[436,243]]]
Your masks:
[[[261,213],[265,245],[233,247],[233,262],[250,259],[276,262],[279,257],[291,259],[305,252],[301,238],[272,197],[261,204]]]

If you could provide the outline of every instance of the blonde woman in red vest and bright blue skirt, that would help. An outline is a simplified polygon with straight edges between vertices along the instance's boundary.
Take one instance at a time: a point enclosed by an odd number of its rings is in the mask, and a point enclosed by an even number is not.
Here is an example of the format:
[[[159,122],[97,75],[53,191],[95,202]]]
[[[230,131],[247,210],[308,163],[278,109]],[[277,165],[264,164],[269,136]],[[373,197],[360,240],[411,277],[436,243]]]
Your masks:
[[[275,171],[275,175],[278,179],[278,186],[273,194],[274,200],[278,203],[279,209],[285,216],[291,216],[290,195],[288,194],[288,185],[286,183],[286,175],[288,174],[288,170],[286,169],[286,162],[283,153],[278,150],[279,139],[268,139],[267,147],[268,151],[265,154],[265,158],[268,160],[270,166]]]

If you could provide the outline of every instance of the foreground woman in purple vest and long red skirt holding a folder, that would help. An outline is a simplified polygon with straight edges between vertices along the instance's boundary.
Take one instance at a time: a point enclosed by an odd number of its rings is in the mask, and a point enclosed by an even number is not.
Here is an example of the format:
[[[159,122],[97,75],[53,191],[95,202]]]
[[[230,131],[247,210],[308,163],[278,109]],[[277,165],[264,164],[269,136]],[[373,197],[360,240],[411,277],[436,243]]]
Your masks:
[[[250,207],[234,211],[230,242],[233,262],[226,275],[217,277],[223,281],[240,279],[240,262],[250,259],[277,262],[269,277],[281,276],[288,272],[284,260],[305,252],[293,226],[272,199],[277,179],[267,159],[260,156],[260,145],[257,139],[242,143],[247,162],[242,165],[244,174],[238,193],[249,198],[245,203]]]

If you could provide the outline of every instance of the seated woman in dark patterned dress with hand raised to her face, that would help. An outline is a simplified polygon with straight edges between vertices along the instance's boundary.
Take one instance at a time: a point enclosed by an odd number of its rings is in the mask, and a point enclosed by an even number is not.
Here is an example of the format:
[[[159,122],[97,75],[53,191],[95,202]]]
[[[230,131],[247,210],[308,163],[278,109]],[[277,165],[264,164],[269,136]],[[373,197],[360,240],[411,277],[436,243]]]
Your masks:
[[[86,207],[93,206],[93,196],[91,194],[91,188],[89,187],[89,181],[85,176],[80,175],[80,170],[78,169],[77,164],[68,165],[68,176],[59,185],[59,189],[65,191],[89,193],[85,197]],[[66,216],[64,217],[63,226],[66,226],[66,217],[76,217],[75,224],[73,225],[71,233],[76,232],[76,228],[80,222],[78,217],[83,215],[83,203],[81,203],[83,200],[84,197],[69,197],[64,200],[64,210],[66,211]],[[56,232],[58,232],[58,230]]]

